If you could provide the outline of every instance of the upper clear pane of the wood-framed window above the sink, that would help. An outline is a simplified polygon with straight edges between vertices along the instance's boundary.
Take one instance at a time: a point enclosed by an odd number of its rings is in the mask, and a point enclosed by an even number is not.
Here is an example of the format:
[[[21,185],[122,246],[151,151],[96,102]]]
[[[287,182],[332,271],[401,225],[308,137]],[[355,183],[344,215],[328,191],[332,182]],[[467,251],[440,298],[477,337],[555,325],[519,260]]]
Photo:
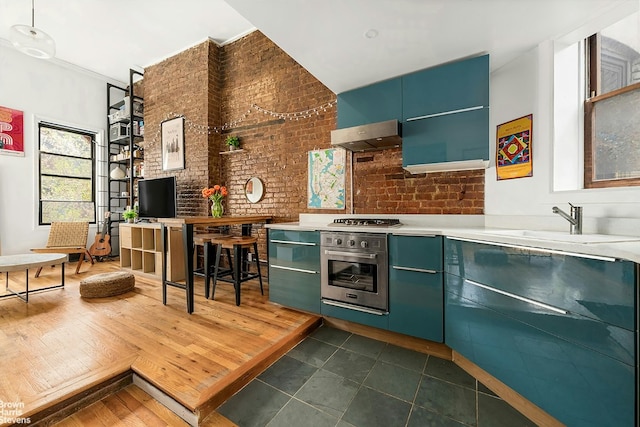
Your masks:
[[[640,81],[638,14],[600,32],[601,94]]]

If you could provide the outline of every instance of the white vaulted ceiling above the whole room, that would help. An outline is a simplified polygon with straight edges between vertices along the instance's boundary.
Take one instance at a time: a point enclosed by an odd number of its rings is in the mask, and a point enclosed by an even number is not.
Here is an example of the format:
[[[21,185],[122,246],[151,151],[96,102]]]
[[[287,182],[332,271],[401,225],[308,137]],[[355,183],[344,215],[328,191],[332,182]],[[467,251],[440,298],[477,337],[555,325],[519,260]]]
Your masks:
[[[126,82],[207,38],[256,28],[336,93],[481,53],[497,69],[545,40],[638,9],[638,0],[34,0],[63,61]],[[31,23],[0,0],[0,39]],[[0,70],[1,73],[1,70]],[[1,74],[0,74],[1,78]]]

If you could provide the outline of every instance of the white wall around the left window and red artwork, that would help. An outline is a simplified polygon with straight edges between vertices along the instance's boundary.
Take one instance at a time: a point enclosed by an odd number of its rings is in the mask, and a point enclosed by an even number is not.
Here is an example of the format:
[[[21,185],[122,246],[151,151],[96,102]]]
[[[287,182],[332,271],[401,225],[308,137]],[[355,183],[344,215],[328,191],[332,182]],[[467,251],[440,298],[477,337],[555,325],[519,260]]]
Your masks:
[[[47,120],[104,133],[107,80],[56,61],[42,61],[0,41],[0,105],[24,112],[24,157],[0,154],[0,253],[47,242],[38,226],[37,123]],[[95,228],[89,232],[93,242]]]

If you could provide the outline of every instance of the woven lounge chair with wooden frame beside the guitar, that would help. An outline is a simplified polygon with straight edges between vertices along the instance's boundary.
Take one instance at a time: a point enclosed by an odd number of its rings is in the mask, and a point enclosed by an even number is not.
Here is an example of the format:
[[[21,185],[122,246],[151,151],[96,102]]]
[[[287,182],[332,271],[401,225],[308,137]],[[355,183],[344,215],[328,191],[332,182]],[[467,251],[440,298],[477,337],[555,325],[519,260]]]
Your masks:
[[[79,254],[80,259],[76,266],[76,274],[80,271],[80,266],[85,259],[85,255],[89,256],[91,264],[93,264],[93,256],[87,250],[87,238],[89,237],[88,222],[52,222],[51,230],[49,230],[49,239],[47,246],[44,248],[31,249],[37,253],[56,253],[56,254]],[[40,275],[42,267],[36,272],[36,276]]]

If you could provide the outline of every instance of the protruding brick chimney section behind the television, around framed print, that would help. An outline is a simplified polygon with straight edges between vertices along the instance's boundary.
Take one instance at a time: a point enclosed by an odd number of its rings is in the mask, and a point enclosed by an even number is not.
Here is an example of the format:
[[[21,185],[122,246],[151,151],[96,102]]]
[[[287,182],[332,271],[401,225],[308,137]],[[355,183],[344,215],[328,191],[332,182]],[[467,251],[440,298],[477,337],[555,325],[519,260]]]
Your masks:
[[[178,215],[206,214],[200,190],[208,185],[211,171],[219,169],[218,156],[210,156],[208,149],[214,136],[206,132],[219,120],[219,105],[209,98],[210,86],[216,84],[218,49],[204,42],[145,69],[145,178],[176,176]],[[174,114],[186,119],[185,169],[163,171],[160,124]]]

